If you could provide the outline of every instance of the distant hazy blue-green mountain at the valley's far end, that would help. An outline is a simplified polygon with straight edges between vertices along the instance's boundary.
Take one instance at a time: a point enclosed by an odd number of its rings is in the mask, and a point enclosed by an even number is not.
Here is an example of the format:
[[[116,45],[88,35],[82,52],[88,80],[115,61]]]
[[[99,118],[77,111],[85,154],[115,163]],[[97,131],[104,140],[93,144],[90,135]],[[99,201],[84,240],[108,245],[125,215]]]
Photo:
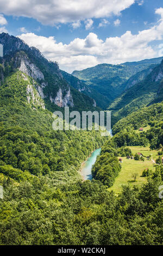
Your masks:
[[[98,93],[105,96],[106,104],[109,106],[126,88],[134,84],[134,81],[129,81],[129,84],[126,84],[131,76],[149,68],[149,66],[154,68],[155,65],[161,63],[162,58],[146,59],[140,62],[127,62],[120,65],[99,64],[82,71],[73,71],[72,75],[78,77],[87,86],[96,89]],[[143,75],[148,74],[149,70],[146,70]],[[139,80],[140,77],[140,74],[138,74],[136,79],[138,78]],[[135,80],[135,77],[132,79]],[[102,102],[103,98],[101,98],[101,104]]]

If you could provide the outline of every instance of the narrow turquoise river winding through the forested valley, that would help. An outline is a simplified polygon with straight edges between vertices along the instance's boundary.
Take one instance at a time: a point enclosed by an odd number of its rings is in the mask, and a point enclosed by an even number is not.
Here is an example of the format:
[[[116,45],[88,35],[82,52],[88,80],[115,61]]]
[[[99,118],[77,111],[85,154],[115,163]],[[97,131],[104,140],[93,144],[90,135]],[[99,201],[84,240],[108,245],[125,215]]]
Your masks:
[[[84,166],[82,167],[82,170],[81,170],[81,174],[84,180],[92,179],[92,172],[91,172],[92,166],[93,164],[95,164],[97,156],[100,155],[100,153],[101,153],[101,148],[96,149],[95,151],[93,151],[91,156],[84,163]]]

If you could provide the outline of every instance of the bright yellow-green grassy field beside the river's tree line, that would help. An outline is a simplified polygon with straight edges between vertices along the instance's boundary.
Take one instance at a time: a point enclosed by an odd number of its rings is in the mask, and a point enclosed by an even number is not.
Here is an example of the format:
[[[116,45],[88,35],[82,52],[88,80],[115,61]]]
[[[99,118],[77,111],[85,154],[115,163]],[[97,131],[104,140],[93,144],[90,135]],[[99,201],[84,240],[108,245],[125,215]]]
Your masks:
[[[158,151],[156,150],[150,150],[148,147],[129,147],[135,155],[135,153],[141,153],[143,156],[152,156],[152,159],[155,160],[158,158],[157,154]],[[109,191],[113,190],[116,194],[119,194],[122,191],[122,185],[130,184],[130,186],[133,185],[142,185],[146,182],[146,178],[142,177],[142,172],[144,169],[149,168],[154,170],[155,164],[152,160],[147,160],[145,157],[145,161],[136,161],[134,159],[127,159],[126,157],[122,158],[122,170],[115,179],[114,185],[110,188],[108,188]],[[133,174],[137,174],[136,181],[134,182]]]

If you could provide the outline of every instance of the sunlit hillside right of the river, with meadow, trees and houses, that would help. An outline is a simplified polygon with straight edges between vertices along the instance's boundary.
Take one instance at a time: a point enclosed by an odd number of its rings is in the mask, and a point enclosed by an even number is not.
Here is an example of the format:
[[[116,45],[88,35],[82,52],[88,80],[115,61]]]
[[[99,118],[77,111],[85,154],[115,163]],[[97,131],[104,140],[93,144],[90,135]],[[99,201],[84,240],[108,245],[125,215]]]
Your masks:
[[[141,108],[119,120],[112,127],[114,136],[103,145],[101,156],[92,169],[94,178],[116,194],[123,190],[122,185],[133,187],[147,182],[145,177],[153,175],[162,163],[162,120],[163,102]],[[139,127],[143,127],[142,132]]]

